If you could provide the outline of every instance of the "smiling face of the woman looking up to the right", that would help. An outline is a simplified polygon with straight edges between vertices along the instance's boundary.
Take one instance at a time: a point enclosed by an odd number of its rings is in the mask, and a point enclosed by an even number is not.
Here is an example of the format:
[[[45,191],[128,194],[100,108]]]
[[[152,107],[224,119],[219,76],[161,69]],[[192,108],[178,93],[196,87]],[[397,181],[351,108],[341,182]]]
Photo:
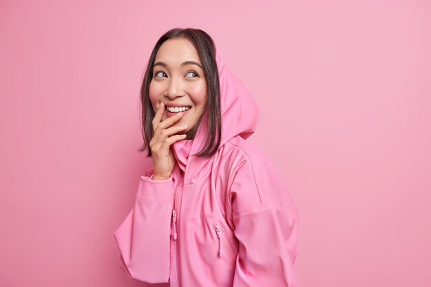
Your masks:
[[[169,39],[160,46],[149,84],[149,98],[154,111],[157,111],[161,102],[165,104],[162,120],[178,112],[183,114],[174,123],[188,125],[180,134],[198,123],[207,100],[207,79],[198,53],[187,39]],[[177,111],[169,111],[175,107]]]

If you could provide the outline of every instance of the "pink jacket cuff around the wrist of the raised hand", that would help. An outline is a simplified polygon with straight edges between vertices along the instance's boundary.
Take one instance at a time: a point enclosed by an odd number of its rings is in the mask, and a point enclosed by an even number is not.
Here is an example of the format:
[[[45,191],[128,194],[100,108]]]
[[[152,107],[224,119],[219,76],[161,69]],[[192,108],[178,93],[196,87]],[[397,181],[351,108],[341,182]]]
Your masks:
[[[136,200],[143,203],[158,204],[174,200],[174,181],[172,175],[166,180],[152,180],[153,176],[141,176]]]

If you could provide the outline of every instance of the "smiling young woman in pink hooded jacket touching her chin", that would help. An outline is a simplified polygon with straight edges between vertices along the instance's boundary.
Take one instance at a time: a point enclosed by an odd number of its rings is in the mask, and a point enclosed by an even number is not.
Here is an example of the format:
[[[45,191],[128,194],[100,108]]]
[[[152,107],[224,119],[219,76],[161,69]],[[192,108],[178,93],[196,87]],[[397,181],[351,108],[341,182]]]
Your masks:
[[[170,286],[297,286],[299,213],[246,141],[259,109],[198,29],[156,43],[141,89],[144,146],[132,211],[114,233],[129,277]]]

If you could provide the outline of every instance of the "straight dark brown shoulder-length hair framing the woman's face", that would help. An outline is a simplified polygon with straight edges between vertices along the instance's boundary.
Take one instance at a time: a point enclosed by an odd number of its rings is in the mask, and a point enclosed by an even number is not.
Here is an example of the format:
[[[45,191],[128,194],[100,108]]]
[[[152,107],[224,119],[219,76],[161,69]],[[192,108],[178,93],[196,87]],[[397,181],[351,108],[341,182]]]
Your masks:
[[[221,111],[220,111],[220,81],[218,78],[217,63],[215,61],[215,45],[211,36],[200,29],[193,28],[174,28],[163,34],[158,39],[154,46],[149,61],[147,63],[147,70],[143,78],[143,84],[140,88],[140,129],[143,134],[143,146],[138,149],[139,152],[148,149],[148,156],[151,156],[151,149],[149,148],[149,142],[154,136],[154,130],[152,120],[155,112],[149,99],[149,83],[153,78],[153,67],[156,59],[156,54],[165,41],[169,39],[187,39],[189,40],[196,51],[202,67],[204,70],[205,77],[207,78],[207,101],[204,107],[202,116],[200,116],[198,123],[186,132],[186,140],[193,140],[198,131],[198,127],[202,118],[208,116],[207,120],[207,138],[205,140],[204,147],[196,153],[196,156],[207,156],[211,157],[218,150],[220,146],[220,140],[222,137],[222,123],[221,123]]]

